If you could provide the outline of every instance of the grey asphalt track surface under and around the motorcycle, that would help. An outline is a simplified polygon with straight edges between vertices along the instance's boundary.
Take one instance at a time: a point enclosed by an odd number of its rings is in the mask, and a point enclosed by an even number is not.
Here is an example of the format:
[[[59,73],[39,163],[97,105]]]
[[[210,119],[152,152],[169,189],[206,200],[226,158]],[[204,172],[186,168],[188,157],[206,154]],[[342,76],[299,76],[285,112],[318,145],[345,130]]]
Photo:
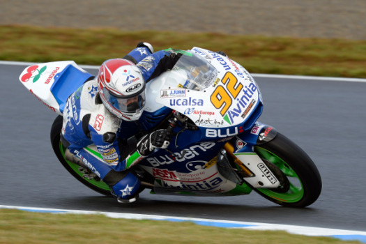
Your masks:
[[[0,64],[0,205],[173,215],[366,231],[366,83],[257,77],[259,121],[301,146],[323,180],[308,208],[284,208],[255,192],[238,197],[181,197],[142,192],[125,206],[70,176],[53,154],[56,114],[18,80],[25,66]],[[95,74],[96,70],[89,70]]]

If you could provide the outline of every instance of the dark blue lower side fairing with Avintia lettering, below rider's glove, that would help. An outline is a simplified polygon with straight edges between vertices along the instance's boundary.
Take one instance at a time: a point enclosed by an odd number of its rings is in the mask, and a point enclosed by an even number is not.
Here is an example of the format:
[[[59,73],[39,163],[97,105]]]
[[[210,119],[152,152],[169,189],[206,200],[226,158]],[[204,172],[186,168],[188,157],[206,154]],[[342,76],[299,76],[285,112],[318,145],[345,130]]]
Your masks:
[[[216,164],[218,150],[223,144],[197,142],[187,148],[174,148],[172,152],[158,150],[139,165],[155,178],[155,193],[207,195],[218,190],[229,192],[236,188],[236,183],[224,178]]]

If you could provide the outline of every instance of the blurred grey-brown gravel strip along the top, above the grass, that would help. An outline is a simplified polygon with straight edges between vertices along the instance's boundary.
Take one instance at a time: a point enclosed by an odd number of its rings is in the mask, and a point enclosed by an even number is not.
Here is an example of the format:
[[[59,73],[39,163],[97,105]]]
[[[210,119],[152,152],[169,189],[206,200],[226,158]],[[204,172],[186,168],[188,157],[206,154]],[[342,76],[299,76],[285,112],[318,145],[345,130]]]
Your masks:
[[[0,25],[366,39],[364,0],[1,0]]]

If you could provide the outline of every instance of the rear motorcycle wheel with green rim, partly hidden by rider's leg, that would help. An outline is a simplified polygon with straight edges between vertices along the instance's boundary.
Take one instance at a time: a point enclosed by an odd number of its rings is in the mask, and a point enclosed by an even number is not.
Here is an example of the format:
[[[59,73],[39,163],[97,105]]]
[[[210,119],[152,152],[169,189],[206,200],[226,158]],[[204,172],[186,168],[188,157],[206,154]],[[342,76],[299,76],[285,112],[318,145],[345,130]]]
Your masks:
[[[96,192],[102,195],[112,196],[111,190],[106,183],[100,180],[98,181],[96,179],[84,178],[83,177],[84,173],[82,171],[79,171],[80,166],[66,160],[65,158],[66,147],[63,146],[63,144],[60,141],[62,122],[63,122],[62,116],[57,116],[51,128],[52,148],[54,149],[54,153],[56,154],[57,158],[61,162],[61,165],[63,165],[63,167],[65,167],[66,170],[70,174],[72,174],[78,181],[86,185],[88,188],[91,188],[91,190],[95,190]]]

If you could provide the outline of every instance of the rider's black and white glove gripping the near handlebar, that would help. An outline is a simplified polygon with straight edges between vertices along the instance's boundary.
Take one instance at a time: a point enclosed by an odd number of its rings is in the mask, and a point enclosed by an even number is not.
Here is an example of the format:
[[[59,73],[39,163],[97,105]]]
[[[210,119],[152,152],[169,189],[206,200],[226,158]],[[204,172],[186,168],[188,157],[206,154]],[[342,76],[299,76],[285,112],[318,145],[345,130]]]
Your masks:
[[[142,137],[137,144],[137,151],[140,155],[147,156],[152,153],[155,148],[165,149],[169,146],[169,137],[167,130],[156,130]]]

